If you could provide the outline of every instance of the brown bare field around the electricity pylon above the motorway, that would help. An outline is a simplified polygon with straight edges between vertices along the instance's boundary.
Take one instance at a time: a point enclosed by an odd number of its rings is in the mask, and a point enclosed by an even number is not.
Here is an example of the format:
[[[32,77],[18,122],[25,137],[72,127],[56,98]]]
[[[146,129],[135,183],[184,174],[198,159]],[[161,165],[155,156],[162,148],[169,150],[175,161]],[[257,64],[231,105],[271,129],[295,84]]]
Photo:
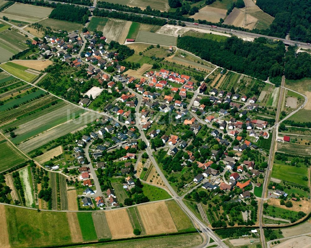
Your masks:
[[[247,14],[246,25],[244,25],[244,11],[234,8],[233,11],[227,16],[224,24],[234,25],[236,27],[243,27],[247,29],[253,29],[258,23],[258,19]]]

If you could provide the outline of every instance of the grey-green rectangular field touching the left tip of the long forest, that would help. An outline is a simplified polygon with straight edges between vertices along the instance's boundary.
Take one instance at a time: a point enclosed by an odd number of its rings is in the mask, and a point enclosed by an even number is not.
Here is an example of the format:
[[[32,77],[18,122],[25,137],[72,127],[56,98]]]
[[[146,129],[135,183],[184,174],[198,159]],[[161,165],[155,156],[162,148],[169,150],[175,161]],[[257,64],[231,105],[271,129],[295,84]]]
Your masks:
[[[135,42],[159,44],[163,46],[176,46],[177,37],[166,34],[154,34],[146,31],[139,31]]]

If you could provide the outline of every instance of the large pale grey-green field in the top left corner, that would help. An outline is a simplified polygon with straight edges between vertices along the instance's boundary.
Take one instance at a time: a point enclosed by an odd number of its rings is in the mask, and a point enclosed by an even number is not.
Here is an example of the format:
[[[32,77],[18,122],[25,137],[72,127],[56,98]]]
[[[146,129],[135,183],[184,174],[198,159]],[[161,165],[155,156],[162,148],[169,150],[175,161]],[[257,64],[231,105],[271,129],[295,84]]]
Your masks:
[[[0,16],[6,16],[9,20],[33,23],[49,16],[52,8],[15,3],[2,11]]]

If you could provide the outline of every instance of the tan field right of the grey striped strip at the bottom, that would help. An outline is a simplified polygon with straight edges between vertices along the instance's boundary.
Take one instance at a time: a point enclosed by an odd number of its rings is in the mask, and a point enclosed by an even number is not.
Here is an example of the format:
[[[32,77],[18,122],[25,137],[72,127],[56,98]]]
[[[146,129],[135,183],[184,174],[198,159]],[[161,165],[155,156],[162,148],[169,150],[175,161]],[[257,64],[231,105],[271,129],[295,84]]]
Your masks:
[[[133,228],[126,209],[106,211],[106,218],[113,239],[133,237]]]

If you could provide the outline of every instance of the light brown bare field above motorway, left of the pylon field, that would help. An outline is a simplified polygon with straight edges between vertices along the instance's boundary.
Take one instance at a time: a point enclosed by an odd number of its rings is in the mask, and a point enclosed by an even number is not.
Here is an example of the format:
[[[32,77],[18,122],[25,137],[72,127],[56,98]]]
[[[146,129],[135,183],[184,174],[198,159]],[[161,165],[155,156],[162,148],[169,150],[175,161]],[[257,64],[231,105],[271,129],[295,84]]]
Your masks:
[[[195,20],[207,20],[211,22],[219,22],[220,18],[224,19],[226,17],[227,10],[214,8],[210,6],[205,6],[195,13],[193,16]]]

